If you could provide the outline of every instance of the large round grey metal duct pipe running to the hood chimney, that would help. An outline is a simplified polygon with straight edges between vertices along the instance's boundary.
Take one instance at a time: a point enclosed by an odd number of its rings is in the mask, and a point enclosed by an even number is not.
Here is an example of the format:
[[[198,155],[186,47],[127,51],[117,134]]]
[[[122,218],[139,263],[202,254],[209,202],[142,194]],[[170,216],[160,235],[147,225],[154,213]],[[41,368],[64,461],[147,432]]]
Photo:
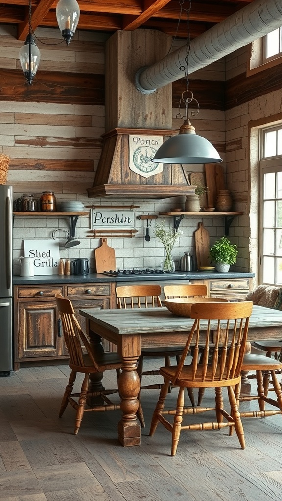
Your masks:
[[[282,26],[281,0],[255,0],[191,42],[189,75],[221,59]],[[135,75],[135,86],[143,94],[183,78],[181,66],[187,67],[186,44],[158,63]]]

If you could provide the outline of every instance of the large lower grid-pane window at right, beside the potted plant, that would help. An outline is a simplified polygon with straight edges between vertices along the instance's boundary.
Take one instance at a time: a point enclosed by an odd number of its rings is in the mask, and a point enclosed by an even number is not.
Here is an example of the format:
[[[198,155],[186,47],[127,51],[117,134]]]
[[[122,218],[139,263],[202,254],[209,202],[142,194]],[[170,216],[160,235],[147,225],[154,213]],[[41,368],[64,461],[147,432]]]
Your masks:
[[[282,125],[261,131],[260,278],[282,285]]]

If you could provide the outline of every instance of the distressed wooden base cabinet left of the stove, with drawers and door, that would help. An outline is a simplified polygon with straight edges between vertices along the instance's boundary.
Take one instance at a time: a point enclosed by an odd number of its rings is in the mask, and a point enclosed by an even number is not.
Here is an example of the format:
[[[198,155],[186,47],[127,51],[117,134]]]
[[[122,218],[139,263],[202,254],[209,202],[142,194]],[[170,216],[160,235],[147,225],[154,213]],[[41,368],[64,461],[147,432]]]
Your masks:
[[[80,308],[113,308],[114,284],[72,284],[14,287],[15,364],[21,362],[67,359],[68,353],[58,330],[56,294],[70,299],[75,311]],[[85,328],[85,318],[78,315]],[[105,351],[112,350],[110,343]]]

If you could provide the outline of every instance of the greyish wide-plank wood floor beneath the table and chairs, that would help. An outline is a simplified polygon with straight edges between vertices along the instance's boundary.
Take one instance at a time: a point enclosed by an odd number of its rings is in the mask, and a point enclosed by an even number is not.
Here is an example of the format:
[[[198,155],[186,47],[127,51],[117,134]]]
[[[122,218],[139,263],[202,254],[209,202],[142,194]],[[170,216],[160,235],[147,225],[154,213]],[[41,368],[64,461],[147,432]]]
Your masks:
[[[69,372],[67,365],[32,367],[0,378],[1,501],[280,501],[280,415],[245,418],[245,450],[226,428],[183,431],[171,457],[168,431],[159,425],[148,436],[158,390],[142,392],[140,446],[119,444],[120,411],[86,413],[74,436],[74,409],[58,418]],[[106,387],[114,377],[104,378]],[[204,402],[212,405],[212,390]]]

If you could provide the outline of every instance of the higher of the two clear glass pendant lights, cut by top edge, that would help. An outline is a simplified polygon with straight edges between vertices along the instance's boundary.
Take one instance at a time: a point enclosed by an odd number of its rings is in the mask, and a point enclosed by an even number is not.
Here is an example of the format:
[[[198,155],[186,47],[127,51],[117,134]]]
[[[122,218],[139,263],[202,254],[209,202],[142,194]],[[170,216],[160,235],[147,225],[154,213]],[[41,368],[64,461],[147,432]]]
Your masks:
[[[62,36],[69,45],[78,25],[80,16],[79,5],[76,0],[60,0],[56,7],[56,18]]]

